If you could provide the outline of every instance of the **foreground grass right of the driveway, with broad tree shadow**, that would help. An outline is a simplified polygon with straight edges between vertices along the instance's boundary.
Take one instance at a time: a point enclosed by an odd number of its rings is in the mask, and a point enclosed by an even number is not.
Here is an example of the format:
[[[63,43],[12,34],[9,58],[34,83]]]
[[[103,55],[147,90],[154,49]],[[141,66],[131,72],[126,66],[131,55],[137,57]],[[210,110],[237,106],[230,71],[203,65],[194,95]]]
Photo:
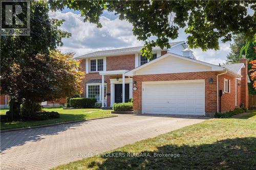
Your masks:
[[[112,150],[108,152],[112,157],[84,158],[53,169],[254,169],[255,151],[256,111],[238,118],[209,119]]]

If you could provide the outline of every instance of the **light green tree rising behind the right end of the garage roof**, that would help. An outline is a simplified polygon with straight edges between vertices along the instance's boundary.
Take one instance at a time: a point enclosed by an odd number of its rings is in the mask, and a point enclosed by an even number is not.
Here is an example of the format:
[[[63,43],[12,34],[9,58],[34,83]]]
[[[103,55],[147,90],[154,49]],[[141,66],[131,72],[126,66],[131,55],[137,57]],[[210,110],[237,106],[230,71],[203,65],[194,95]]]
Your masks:
[[[243,34],[234,35],[233,43],[230,44],[231,52],[227,55],[226,64],[239,63],[241,59],[241,48],[246,44],[246,40]]]

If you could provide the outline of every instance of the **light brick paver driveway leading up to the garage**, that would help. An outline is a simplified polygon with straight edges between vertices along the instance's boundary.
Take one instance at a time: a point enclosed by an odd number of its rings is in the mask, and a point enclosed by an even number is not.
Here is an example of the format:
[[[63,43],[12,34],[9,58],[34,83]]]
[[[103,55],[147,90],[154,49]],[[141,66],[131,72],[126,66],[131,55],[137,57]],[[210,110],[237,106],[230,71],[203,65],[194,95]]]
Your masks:
[[[1,133],[1,169],[49,169],[200,123],[204,117],[118,115]]]

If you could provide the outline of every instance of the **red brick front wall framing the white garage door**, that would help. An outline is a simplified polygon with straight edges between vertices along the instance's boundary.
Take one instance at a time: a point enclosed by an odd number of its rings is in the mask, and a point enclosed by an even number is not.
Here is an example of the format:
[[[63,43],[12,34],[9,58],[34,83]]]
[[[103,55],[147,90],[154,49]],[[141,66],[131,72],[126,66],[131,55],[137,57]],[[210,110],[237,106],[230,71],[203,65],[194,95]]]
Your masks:
[[[209,78],[214,80],[214,83],[209,84]],[[141,110],[141,85],[142,82],[148,81],[172,81],[172,80],[199,80],[205,79],[205,112],[217,111],[217,72],[184,72],[175,74],[157,74],[157,75],[140,75],[134,76],[134,81],[137,82],[138,90],[133,91],[133,106],[134,110]]]

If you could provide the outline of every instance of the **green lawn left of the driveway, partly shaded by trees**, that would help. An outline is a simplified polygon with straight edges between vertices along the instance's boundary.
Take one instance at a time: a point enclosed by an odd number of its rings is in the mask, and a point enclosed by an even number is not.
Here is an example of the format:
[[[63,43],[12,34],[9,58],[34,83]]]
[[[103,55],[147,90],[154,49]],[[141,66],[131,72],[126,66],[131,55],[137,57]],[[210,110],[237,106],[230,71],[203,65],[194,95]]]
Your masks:
[[[113,116],[111,110],[101,110],[101,109],[67,109],[64,110],[62,108],[44,108],[46,111],[57,111],[60,113],[60,118],[54,118],[49,120],[40,120],[40,121],[27,121],[27,122],[2,122],[1,130],[5,129],[15,129],[15,128],[23,128],[23,127],[31,127],[38,125],[46,125],[46,124],[54,124],[61,122],[69,122],[72,120],[85,120],[91,118],[99,118],[99,117],[108,117]],[[7,109],[1,109],[1,114],[5,114]],[[94,111],[92,113],[88,113],[86,111]]]

